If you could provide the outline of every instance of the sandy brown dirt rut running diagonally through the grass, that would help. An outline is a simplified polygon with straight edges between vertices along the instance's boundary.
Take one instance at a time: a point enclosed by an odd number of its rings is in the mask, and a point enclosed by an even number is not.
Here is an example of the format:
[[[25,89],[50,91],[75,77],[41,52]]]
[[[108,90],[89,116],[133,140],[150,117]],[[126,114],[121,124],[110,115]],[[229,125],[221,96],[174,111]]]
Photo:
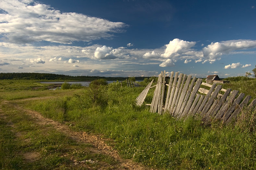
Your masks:
[[[35,99],[35,98],[34,98]],[[37,98],[39,99],[39,98]],[[135,163],[128,159],[122,159],[116,150],[114,150],[111,146],[108,146],[105,141],[109,139],[103,139],[100,136],[89,134],[86,132],[75,132],[71,130],[67,125],[54,121],[52,119],[43,117],[40,113],[35,112],[33,110],[24,109],[19,104],[15,102],[2,101],[3,103],[9,105],[10,107],[15,107],[18,110],[25,112],[27,115],[30,115],[32,118],[36,120],[38,124],[41,125],[52,125],[55,129],[65,133],[66,135],[72,137],[74,140],[78,142],[90,143],[93,145],[93,152],[95,153],[103,153],[109,156],[112,156],[116,159],[116,169],[126,169],[126,170],[149,170],[149,168],[142,166],[141,164]]]

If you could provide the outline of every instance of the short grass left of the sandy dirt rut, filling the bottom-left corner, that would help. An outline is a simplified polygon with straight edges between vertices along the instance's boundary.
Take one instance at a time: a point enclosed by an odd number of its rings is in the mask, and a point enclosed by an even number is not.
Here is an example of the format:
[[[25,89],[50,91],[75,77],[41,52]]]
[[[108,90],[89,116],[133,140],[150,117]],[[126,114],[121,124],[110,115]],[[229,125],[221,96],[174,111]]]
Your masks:
[[[75,170],[116,164],[108,155],[91,152],[91,144],[79,143],[51,125],[40,125],[8,104],[2,103],[1,109],[6,118],[0,119],[0,169]],[[34,153],[38,157],[27,160],[27,155]]]

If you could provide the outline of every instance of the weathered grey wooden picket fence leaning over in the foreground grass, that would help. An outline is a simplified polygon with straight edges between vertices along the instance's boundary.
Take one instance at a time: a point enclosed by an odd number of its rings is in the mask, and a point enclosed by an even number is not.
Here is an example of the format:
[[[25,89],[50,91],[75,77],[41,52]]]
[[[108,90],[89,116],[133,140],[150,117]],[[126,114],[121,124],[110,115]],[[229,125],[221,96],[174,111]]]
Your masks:
[[[237,90],[222,89],[222,85],[213,85],[202,82],[202,79],[187,76],[182,73],[171,72],[171,76],[165,77],[165,71],[158,76],[150,112],[162,114],[168,112],[174,117],[181,118],[187,115],[200,114],[202,121],[208,122],[213,118],[229,123],[235,119],[245,105],[248,105],[251,96],[245,96]],[[167,84],[166,78],[170,79]],[[151,87],[152,82],[137,97],[137,105],[141,105]],[[204,89],[210,87],[210,90]],[[221,91],[223,91],[221,94]],[[249,107],[256,104],[252,100]]]

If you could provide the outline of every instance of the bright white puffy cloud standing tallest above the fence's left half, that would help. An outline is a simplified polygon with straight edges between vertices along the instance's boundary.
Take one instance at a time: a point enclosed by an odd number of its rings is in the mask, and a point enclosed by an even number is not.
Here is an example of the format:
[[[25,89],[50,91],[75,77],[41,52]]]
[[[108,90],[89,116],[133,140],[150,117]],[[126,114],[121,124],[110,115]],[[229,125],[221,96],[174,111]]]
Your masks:
[[[176,55],[177,53],[182,53],[184,50],[187,50],[191,47],[193,47],[196,44],[196,42],[188,42],[180,39],[174,39],[170,41],[169,44],[166,44],[165,53],[161,54],[164,58],[169,58],[173,55]]]

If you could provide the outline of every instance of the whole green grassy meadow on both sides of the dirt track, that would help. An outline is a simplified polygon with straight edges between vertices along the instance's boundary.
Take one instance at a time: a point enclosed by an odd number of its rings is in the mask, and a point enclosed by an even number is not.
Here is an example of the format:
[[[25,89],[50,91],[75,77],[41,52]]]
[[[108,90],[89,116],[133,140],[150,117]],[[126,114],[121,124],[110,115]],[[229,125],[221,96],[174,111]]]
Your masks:
[[[138,107],[135,100],[144,87],[123,85],[121,88],[119,82],[105,85],[97,80],[89,87],[68,86],[52,91],[34,80],[0,80],[2,115],[7,117],[0,120],[0,169],[72,169],[70,158],[61,155],[65,152],[70,157],[77,156],[74,150],[85,150],[77,159],[88,157],[99,162],[110,160],[108,165],[115,164],[110,158],[106,160],[105,156],[86,152],[90,144],[77,143],[54,127],[33,123],[30,117],[10,108],[5,101],[70,124],[74,131],[109,138],[113,141],[109,145],[122,158],[149,168],[256,169],[255,109],[244,108],[238,120],[229,125],[220,122],[205,125],[196,116],[176,119],[168,113],[151,113],[149,106]],[[256,79],[232,81],[223,88],[239,90],[256,98]],[[152,96],[153,89],[145,103],[151,103]],[[24,136],[15,136],[8,125],[10,121]],[[25,142],[26,139],[29,142]],[[28,151],[38,152],[40,159],[26,162],[20,153]],[[52,153],[51,156],[48,153]],[[102,165],[99,163],[95,167]]]

